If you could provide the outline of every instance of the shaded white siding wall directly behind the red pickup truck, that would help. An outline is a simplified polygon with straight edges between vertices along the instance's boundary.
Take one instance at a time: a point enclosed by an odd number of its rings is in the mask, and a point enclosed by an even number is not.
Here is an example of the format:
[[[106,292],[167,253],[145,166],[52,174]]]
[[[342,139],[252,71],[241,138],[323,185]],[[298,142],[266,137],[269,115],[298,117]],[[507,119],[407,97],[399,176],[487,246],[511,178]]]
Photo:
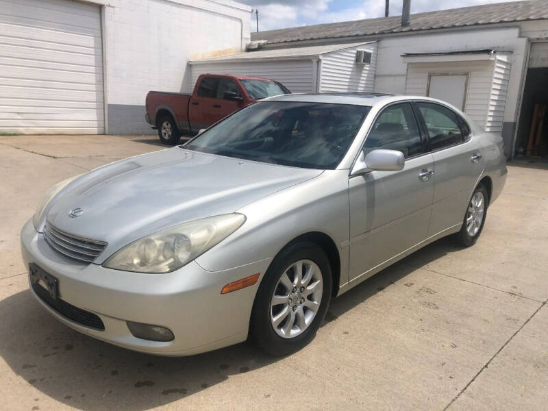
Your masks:
[[[192,64],[191,84],[194,88],[201,74],[256,75],[275,79],[292,92],[314,91],[314,64],[310,58],[303,60],[273,60],[268,62],[210,62]]]

